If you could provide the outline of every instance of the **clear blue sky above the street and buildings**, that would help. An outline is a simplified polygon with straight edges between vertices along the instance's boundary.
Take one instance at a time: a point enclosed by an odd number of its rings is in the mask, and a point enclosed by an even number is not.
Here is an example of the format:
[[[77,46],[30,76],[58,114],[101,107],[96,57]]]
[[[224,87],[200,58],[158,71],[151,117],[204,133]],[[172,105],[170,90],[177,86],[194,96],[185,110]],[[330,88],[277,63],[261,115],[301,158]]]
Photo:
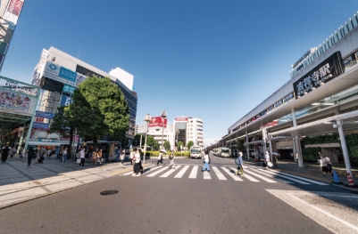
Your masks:
[[[208,145],[357,11],[356,0],[26,0],[1,76],[29,83],[50,46],[120,67],[134,76],[137,124],[163,109],[170,122],[199,117]]]

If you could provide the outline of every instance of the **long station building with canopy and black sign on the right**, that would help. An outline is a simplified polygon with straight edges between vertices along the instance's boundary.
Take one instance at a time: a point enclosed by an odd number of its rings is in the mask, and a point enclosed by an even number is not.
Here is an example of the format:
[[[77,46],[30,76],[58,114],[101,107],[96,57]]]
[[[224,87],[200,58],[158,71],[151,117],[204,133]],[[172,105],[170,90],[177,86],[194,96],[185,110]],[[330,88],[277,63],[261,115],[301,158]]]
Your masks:
[[[234,148],[237,139],[254,152],[293,153],[304,166],[301,142],[305,138],[337,135],[337,142],[321,147],[334,163],[350,171],[346,135],[358,129],[358,12],[322,44],[304,52],[290,71],[291,78],[244,117],[230,125],[218,146]],[[355,149],[354,149],[355,150]]]

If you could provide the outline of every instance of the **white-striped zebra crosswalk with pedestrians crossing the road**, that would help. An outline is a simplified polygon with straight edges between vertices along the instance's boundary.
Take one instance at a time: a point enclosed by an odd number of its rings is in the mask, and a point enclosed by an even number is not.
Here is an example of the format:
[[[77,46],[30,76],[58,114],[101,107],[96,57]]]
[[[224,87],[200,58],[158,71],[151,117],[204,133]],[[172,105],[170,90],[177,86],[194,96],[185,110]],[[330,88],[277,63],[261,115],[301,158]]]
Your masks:
[[[298,175],[283,173],[274,170],[264,170],[258,167],[246,167],[244,175],[236,175],[237,168],[230,166],[211,166],[211,172],[198,173],[198,165],[177,165],[175,169],[168,169],[166,166],[150,165],[146,167],[141,176],[159,178],[173,178],[173,179],[204,179],[219,181],[234,181],[234,182],[284,182],[284,183],[299,183],[304,185],[328,185],[324,182],[316,182]],[[132,172],[122,173],[121,176],[131,175]]]

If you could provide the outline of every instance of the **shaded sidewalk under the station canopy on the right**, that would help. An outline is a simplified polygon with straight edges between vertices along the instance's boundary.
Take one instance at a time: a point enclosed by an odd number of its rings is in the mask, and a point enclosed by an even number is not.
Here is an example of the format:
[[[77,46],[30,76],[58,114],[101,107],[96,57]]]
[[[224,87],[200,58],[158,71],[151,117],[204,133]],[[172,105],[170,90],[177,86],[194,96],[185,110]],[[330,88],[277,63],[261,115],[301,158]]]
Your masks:
[[[247,163],[252,165],[262,165],[263,160],[261,163],[254,162],[253,160],[246,160]],[[348,177],[346,175],[346,166],[344,164],[334,164],[332,165],[332,173],[334,170],[336,170],[339,182],[343,182],[344,184],[337,185],[332,183],[333,182],[333,176],[330,175],[330,173],[327,173],[326,176],[323,176],[322,173],[322,167],[320,165],[316,165],[314,163],[307,163],[304,162],[304,167],[298,167],[297,163],[291,160],[278,160],[277,162],[278,169],[272,169],[283,173],[292,173],[299,176],[303,176],[312,180],[320,181],[320,182],[326,182],[331,183],[332,185],[335,185],[337,187],[342,187],[345,189],[350,189],[358,192],[358,188],[351,188],[346,187],[345,185],[348,184]],[[353,166],[352,167],[352,178],[354,181],[354,184],[358,184],[358,167]]]

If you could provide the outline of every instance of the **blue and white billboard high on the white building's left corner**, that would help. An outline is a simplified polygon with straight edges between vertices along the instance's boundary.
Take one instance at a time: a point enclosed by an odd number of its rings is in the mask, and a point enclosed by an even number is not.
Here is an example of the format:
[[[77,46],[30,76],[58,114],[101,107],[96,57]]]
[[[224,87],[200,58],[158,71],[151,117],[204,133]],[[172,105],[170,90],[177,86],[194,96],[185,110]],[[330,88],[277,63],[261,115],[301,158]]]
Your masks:
[[[46,61],[44,76],[62,82],[63,84],[75,86],[77,74],[74,71],[62,68],[54,62]]]

